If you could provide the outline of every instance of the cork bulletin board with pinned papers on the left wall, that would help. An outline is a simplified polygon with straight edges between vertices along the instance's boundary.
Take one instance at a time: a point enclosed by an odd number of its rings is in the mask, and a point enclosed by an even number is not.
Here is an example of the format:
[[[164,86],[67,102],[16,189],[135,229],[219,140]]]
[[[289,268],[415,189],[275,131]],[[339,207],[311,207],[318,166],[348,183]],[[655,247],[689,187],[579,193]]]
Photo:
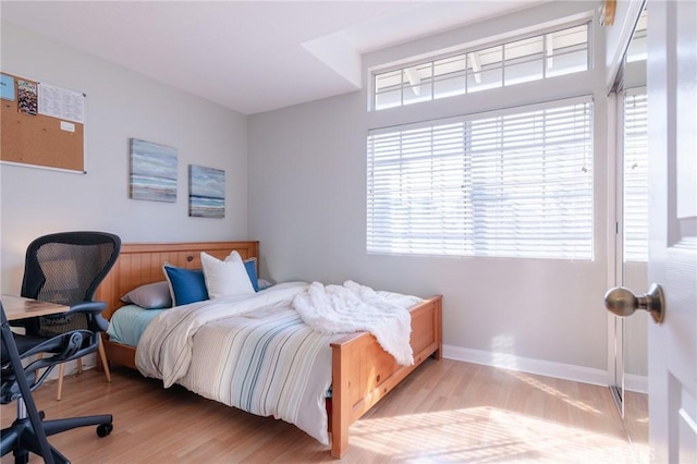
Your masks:
[[[0,161],[84,173],[85,95],[0,74]]]

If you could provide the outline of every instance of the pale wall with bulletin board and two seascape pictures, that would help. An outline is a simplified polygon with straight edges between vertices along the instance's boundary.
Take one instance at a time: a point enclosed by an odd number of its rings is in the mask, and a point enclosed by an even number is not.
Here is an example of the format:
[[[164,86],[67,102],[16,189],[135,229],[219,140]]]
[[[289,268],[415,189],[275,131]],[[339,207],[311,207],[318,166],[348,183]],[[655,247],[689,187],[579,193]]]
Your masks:
[[[0,164],[3,293],[20,292],[24,251],[45,233],[105,230],[124,242],[248,239],[245,115],[5,21],[1,34],[2,71],[87,95],[87,174]],[[178,149],[176,203],[129,198],[131,137]],[[188,217],[192,163],[225,171],[224,219]]]

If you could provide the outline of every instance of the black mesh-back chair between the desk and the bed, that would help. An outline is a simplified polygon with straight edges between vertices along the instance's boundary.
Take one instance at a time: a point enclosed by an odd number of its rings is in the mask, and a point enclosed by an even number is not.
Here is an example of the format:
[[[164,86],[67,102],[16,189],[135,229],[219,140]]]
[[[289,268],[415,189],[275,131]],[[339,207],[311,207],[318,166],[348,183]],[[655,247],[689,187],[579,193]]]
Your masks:
[[[33,241],[26,251],[22,296],[70,306],[68,313],[19,321],[26,334],[48,340],[71,330],[89,330],[97,335],[89,339],[71,359],[98,352],[111,381],[107,355],[99,332],[108,322],[101,316],[107,305],[93,301],[97,286],[107,276],[121,249],[121,239],[106,232],[60,232]],[[15,321],[13,321],[13,325]],[[63,390],[65,364],[59,366],[58,400]]]

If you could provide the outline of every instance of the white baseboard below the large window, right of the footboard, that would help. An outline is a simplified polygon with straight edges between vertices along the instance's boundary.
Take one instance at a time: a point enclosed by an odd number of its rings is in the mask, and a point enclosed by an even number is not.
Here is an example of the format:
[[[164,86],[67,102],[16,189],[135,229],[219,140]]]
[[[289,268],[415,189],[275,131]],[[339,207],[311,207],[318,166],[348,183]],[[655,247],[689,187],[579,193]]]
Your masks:
[[[608,387],[608,373],[602,369],[534,359],[513,354],[443,345],[443,357],[466,363],[482,364],[502,369],[537,374],[583,383]]]

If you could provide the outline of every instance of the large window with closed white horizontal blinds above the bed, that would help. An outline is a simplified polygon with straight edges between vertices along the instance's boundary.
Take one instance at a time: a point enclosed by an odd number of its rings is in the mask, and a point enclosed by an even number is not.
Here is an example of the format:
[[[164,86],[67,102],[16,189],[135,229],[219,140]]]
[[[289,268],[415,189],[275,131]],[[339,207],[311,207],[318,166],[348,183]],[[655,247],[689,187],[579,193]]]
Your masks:
[[[368,253],[592,259],[591,106],[370,131]]]

